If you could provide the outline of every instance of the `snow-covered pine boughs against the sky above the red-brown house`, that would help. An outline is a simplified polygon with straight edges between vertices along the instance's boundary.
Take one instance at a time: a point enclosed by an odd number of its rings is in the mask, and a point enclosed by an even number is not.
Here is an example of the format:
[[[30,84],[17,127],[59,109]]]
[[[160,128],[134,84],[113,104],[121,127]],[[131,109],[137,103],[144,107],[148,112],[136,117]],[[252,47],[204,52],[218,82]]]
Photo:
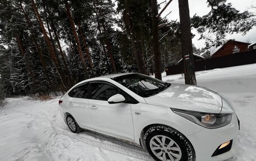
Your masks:
[[[246,34],[256,25],[255,15],[249,11],[240,12],[226,0],[207,0],[211,11],[202,17],[194,15],[192,26],[205,39],[209,49],[226,42],[227,34]]]

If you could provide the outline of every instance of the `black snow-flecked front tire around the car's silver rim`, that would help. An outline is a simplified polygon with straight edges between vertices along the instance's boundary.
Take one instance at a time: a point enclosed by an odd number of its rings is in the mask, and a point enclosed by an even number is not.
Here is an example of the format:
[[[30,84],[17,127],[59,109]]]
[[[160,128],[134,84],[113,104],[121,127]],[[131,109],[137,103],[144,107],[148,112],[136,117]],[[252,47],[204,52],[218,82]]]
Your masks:
[[[148,150],[149,154],[156,159],[157,161],[163,161],[163,159],[159,159],[150,148],[150,140],[155,136],[167,136],[168,138],[172,139],[176,142],[176,144],[179,146],[181,150],[181,158],[180,161],[195,161],[195,152],[193,149],[193,146],[191,145],[190,141],[182,135],[179,131],[168,127],[168,126],[152,126],[150,127],[143,137],[144,146]],[[156,152],[156,150],[154,150]],[[159,149],[159,151],[162,151]],[[163,151],[164,152],[164,151]],[[157,151],[158,153],[158,151]],[[161,152],[162,153],[162,152]],[[165,154],[166,153],[166,154]],[[167,152],[163,153],[164,155],[167,155]],[[163,154],[161,155],[163,158]],[[170,157],[167,159],[170,159]]]

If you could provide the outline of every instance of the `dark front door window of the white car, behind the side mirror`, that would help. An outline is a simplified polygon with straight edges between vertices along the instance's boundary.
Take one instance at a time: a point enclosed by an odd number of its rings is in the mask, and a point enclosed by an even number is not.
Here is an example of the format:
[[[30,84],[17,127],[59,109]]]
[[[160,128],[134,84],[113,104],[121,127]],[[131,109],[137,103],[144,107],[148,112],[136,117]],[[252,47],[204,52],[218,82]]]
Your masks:
[[[93,82],[90,86],[92,99],[107,101],[111,96],[120,93],[120,89],[102,82]]]

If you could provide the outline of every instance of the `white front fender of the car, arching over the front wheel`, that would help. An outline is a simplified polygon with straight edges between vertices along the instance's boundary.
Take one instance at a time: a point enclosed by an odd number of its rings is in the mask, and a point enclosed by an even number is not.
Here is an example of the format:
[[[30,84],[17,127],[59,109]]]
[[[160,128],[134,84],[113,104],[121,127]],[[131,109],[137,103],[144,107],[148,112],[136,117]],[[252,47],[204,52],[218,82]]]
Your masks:
[[[172,112],[170,108],[138,103],[131,104],[132,119],[134,121],[135,142],[139,144],[140,134],[144,127],[153,124],[170,126],[189,136],[203,129],[186,118]]]

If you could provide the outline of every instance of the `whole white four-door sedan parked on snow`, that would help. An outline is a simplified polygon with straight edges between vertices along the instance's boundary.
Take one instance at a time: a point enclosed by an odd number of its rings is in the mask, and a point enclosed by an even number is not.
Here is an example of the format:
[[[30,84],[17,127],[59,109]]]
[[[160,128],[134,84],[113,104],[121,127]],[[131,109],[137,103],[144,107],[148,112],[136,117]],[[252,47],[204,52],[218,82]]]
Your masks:
[[[156,160],[225,160],[236,153],[239,119],[213,90],[120,73],[76,84],[60,99],[72,132],[128,140]]]

